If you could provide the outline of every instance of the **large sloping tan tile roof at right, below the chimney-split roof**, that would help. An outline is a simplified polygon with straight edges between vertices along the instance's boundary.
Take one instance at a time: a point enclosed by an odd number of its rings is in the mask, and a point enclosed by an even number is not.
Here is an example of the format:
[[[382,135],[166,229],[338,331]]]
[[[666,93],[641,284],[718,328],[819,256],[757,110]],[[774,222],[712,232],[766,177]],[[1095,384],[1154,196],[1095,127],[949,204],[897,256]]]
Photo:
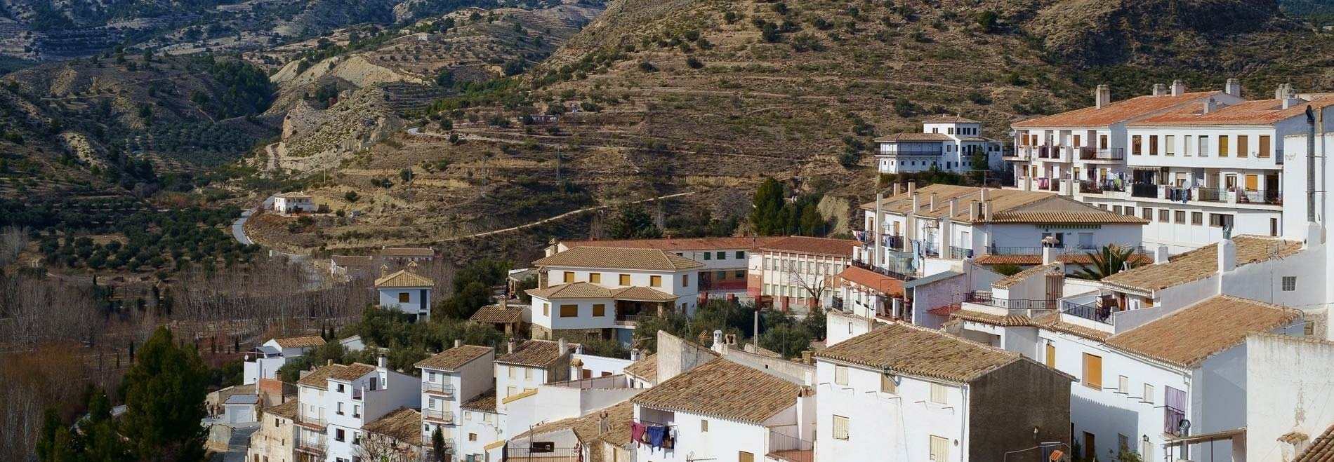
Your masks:
[[[1182,308],[1139,328],[1107,338],[1107,346],[1182,367],[1246,342],[1246,334],[1270,332],[1301,320],[1301,312],[1278,305],[1218,296]]]

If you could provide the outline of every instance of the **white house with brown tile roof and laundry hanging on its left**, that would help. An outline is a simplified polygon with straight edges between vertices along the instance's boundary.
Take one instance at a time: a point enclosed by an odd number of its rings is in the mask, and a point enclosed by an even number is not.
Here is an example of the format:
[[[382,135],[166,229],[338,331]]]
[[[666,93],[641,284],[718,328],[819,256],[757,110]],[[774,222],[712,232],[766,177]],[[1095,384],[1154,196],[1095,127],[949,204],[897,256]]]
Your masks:
[[[659,355],[660,358],[660,355]],[[715,358],[631,399],[635,461],[764,461],[814,445],[814,391]],[[642,430],[640,430],[642,429]]]

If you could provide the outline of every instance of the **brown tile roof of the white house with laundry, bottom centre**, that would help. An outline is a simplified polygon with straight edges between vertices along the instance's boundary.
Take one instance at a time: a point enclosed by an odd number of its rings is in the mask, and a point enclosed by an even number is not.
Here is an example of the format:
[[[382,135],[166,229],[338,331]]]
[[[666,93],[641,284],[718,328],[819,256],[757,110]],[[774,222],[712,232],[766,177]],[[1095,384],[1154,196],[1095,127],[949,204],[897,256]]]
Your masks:
[[[644,407],[763,423],[795,405],[800,391],[796,383],[715,358],[630,401]]]

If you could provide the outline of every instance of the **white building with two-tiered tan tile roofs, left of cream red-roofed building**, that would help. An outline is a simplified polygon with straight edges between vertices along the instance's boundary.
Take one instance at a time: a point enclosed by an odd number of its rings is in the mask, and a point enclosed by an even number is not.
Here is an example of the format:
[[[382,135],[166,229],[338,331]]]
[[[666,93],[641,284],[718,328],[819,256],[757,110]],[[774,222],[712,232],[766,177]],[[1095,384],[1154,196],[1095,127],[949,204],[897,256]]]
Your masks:
[[[539,268],[524,321],[534,338],[596,336],[630,344],[635,320],[695,314],[703,264],[662,249],[576,246]]]

